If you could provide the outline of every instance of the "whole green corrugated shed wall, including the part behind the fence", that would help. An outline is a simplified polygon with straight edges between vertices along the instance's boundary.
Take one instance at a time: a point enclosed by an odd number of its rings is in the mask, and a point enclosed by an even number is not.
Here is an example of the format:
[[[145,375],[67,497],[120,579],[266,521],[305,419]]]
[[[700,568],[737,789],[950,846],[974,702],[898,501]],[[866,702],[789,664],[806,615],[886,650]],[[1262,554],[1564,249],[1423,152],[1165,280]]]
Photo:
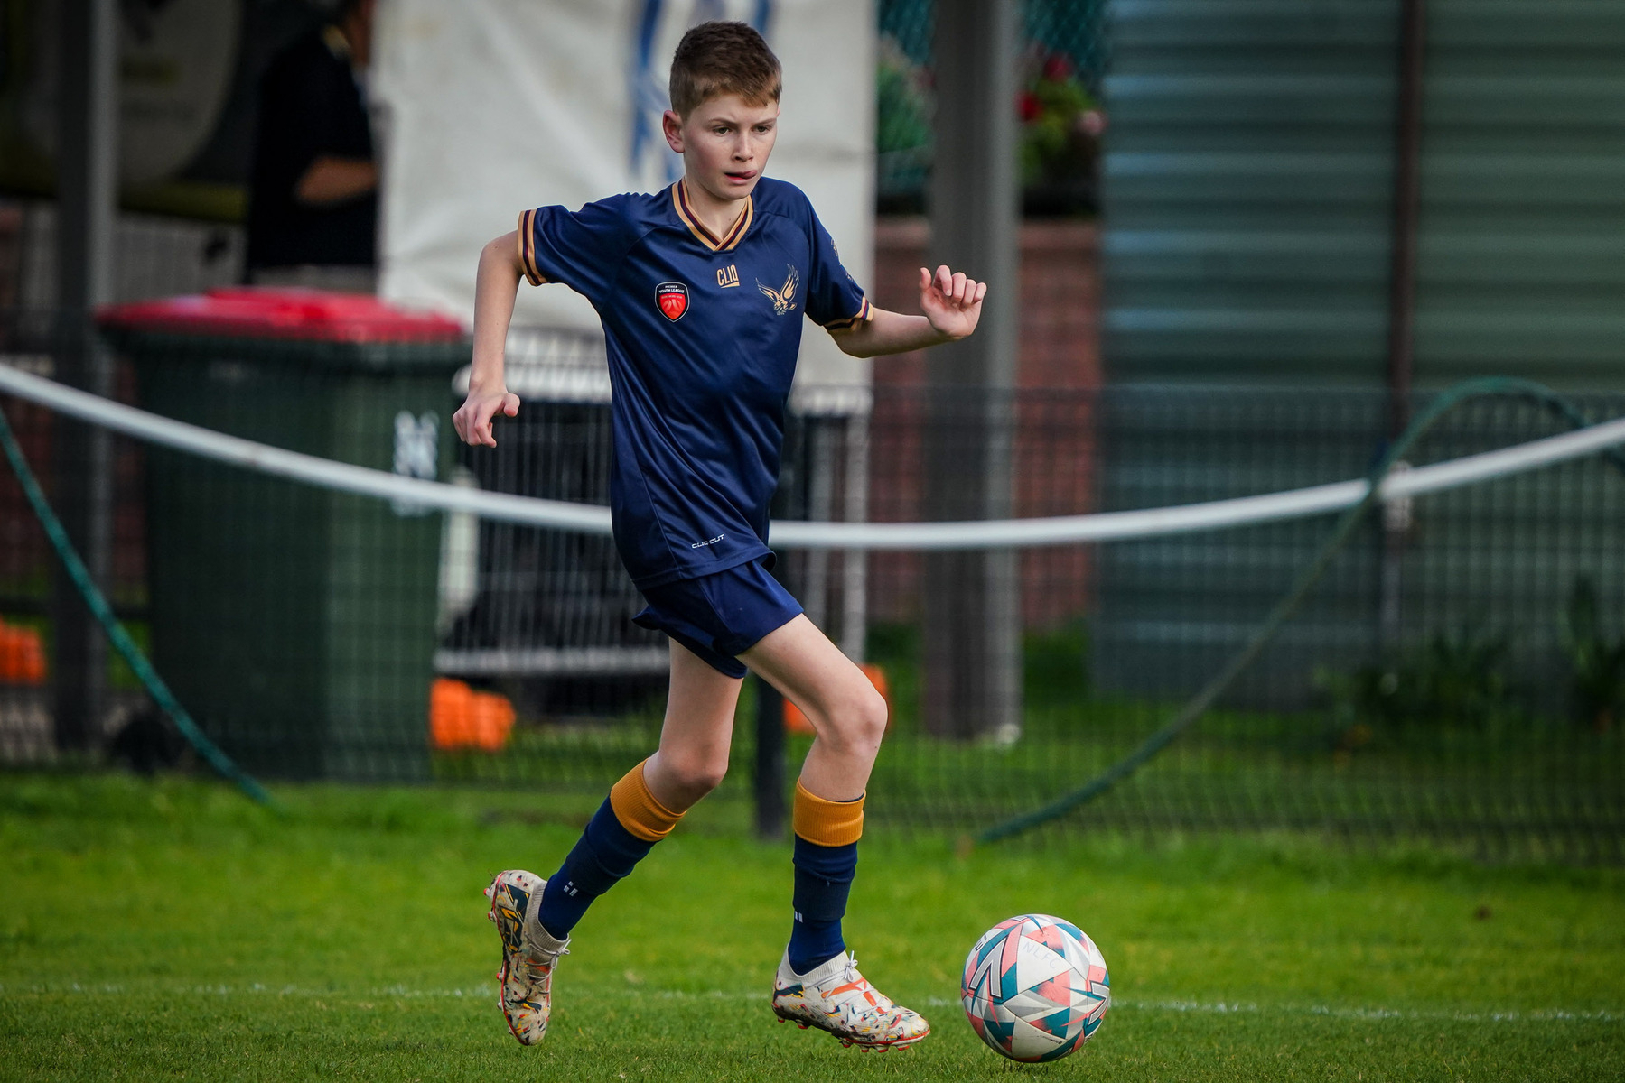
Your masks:
[[[1103,442],[1102,507],[1268,492],[1373,461],[1399,16],[1399,0],[1113,3],[1105,364],[1126,412]],[[1420,182],[1417,386],[1511,373],[1625,390],[1625,0],[1427,0]],[[1154,383],[1186,391],[1129,386]],[[1594,416],[1618,403],[1591,401]],[[1518,406],[1461,427],[1424,456],[1554,430]],[[1550,677],[1573,576],[1625,589],[1617,520],[1599,511],[1620,498],[1614,474],[1575,464],[1420,503],[1402,640],[1505,632],[1524,672]],[[1102,547],[1102,685],[1198,685],[1324,529]],[[1376,648],[1378,541],[1339,560],[1238,701],[1308,703],[1316,664]]]

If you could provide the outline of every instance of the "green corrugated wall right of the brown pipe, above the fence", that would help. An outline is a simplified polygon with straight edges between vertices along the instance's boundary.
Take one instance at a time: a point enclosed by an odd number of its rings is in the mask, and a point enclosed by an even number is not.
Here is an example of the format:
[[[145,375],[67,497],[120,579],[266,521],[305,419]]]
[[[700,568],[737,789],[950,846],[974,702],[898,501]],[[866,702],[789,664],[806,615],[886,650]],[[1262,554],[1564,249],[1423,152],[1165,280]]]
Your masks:
[[[1427,10],[1419,380],[1625,386],[1625,3]]]

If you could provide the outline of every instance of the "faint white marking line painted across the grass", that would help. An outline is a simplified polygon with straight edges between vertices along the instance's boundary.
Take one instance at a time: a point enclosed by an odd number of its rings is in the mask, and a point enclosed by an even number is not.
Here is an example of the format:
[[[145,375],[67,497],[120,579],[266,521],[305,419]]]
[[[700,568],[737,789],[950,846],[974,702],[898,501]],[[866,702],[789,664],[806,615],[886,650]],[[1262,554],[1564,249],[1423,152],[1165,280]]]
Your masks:
[[[67,986],[52,984],[0,984],[0,997],[5,995],[60,995],[60,994],[80,994],[80,995],[125,995],[128,992],[164,992],[169,995],[185,995],[193,994],[200,997],[242,997],[242,995],[271,995],[271,997],[327,997],[330,1000],[343,999],[367,999],[367,1000],[388,1000],[388,999],[411,999],[411,1000],[489,1000],[496,997],[496,986],[471,986],[468,989],[410,989],[406,986],[380,986],[372,989],[310,989],[301,986],[266,986],[262,982],[252,982],[249,986],[159,986],[159,984],[140,984],[140,986],[124,986],[117,982],[102,984],[81,984],[70,982]],[[656,997],[660,1000],[760,1000],[767,1002],[767,995],[762,992],[739,992],[730,989],[637,989],[622,987],[614,989],[606,986],[588,987],[585,990],[588,995],[614,995],[614,997]],[[957,1008],[959,1000],[949,1000],[946,997],[926,997],[923,1000],[928,1008]],[[1436,1020],[1450,1023],[1547,1023],[1552,1020],[1571,1020],[1571,1021],[1596,1021],[1596,1023],[1617,1023],[1625,1020],[1625,1015],[1618,1012],[1586,1012],[1586,1010],[1570,1010],[1570,1008],[1532,1008],[1529,1012],[1453,1012],[1453,1010],[1407,1010],[1407,1008],[1360,1008],[1360,1007],[1332,1007],[1323,1003],[1254,1003],[1254,1002],[1235,1002],[1235,1000],[1124,1000],[1121,997],[1112,997],[1113,1008],[1126,1008],[1131,1012],[1175,1012],[1190,1015],[1303,1015],[1303,1016],[1326,1016],[1334,1020]]]

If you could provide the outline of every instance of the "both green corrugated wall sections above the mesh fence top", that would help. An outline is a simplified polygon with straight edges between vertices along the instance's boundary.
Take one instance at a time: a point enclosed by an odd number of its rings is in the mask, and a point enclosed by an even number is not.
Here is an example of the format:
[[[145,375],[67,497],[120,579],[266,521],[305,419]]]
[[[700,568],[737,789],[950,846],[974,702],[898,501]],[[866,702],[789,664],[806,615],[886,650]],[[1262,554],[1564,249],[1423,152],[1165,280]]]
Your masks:
[[[1383,378],[1396,0],[1118,0],[1113,382]],[[1430,0],[1417,380],[1625,385],[1625,3]]]

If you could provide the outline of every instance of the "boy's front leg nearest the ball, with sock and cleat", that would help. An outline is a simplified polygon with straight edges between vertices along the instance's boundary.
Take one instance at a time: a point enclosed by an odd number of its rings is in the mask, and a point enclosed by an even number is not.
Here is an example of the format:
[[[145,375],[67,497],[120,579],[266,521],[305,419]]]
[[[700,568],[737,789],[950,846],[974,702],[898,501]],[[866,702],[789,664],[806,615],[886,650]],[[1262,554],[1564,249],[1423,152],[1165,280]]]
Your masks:
[[[816,732],[796,783],[795,922],[774,1010],[848,1046],[912,1046],[931,1033],[930,1025],[869,986],[840,934],[858,867],[863,794],[886,734],[886,700],[804,615],[739,658],[793,700]]]

